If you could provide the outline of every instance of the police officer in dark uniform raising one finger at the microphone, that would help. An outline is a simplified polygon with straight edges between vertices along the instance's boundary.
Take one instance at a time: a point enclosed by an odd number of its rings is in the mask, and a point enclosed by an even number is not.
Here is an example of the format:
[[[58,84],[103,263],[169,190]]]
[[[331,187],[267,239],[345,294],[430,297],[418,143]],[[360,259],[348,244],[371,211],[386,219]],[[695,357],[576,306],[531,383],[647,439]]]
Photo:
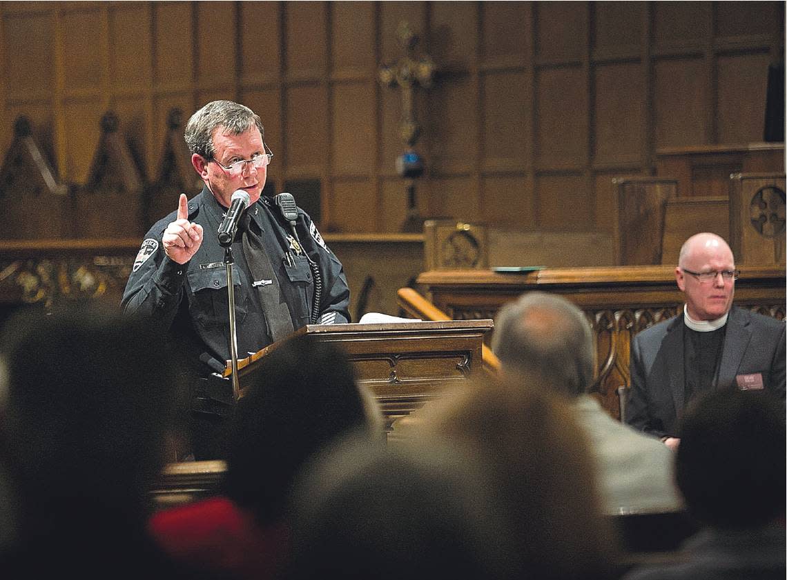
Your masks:
[[[148,231],[122,307],[160,325],[187,351],[194,363],[194,457],[216,459],[224,456],[235,405],[231,387],[211,380],[231,358],[227,266],[217,233],[232,200],[248,200],[231,238],[239,358],[307,324],[349,322],[349,288],[309,215],[294,201],[283,209],[262,196],[273,153],[260,116],[212,101],[191,116],[184,138],[205,185],[190,200],[181,194],[177,210]]]

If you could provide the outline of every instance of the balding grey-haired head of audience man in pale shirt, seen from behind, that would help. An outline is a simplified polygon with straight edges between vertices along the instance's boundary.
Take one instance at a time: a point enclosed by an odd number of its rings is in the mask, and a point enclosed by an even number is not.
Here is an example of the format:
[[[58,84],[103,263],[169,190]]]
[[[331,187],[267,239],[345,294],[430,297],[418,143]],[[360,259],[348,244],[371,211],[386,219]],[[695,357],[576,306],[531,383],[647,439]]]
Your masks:
[[[502,307],[492,350],[504,369],[549,377],[564,394],[581,395],[593,384],[593,333],[582,310],[561,296],[528,292]]]

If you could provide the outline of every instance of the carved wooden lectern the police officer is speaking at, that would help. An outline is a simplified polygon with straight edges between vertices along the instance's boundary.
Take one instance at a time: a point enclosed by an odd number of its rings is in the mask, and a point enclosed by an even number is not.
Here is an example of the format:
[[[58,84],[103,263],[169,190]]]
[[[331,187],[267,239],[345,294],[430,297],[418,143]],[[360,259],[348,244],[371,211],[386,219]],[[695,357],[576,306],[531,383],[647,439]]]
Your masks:
[[[307,325],[238,361],[241,396],[249,385],[264,383],[268,353],[306,335],[345,351],[358,383],[375,395],[390,429],[397,418],[482,373],[483,337],[492,327],[491,320]]]

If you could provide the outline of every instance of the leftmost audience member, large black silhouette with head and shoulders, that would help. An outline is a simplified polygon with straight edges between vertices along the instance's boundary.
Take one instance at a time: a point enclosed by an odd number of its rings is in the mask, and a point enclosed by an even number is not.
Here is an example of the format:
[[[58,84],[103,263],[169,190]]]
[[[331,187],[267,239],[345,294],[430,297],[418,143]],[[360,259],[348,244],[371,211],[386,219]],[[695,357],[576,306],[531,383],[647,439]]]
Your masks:
[[[6,325],[0,446],[18,498],[5,578],[202,578],[146,530],[184,398],[176,354],[93,305]]]

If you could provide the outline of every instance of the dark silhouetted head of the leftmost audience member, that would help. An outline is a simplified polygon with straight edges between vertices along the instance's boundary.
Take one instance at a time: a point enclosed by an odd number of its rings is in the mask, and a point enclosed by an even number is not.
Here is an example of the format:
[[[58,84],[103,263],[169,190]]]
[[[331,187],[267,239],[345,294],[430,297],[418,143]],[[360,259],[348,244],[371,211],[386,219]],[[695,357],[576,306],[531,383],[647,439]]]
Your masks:
[[[176,353],[98,304],[20,313],[4,329],[6,434],[22,537],[95,521],[144,527],[184,396]]]

